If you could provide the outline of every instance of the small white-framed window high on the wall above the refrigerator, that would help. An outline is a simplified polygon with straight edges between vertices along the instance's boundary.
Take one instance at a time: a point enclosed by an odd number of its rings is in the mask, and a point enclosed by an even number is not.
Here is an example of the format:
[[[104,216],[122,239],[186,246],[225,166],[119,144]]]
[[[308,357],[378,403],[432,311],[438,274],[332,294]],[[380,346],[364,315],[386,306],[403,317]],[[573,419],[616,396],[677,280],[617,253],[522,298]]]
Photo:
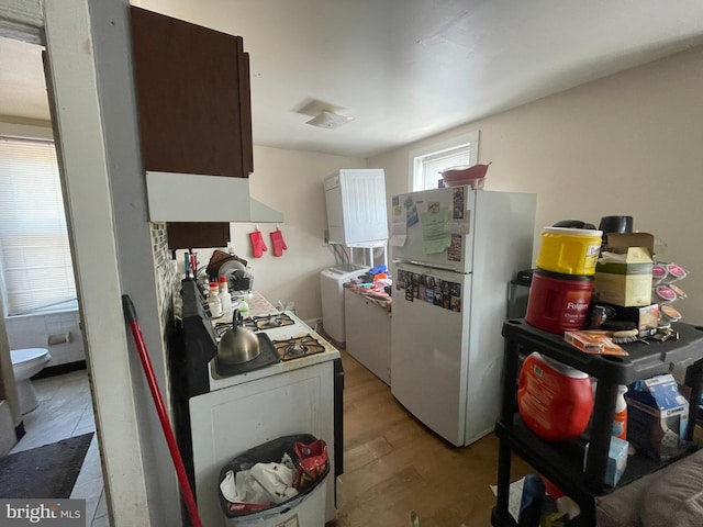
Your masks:
[[[411,153],[412,190],[439,187],[442,171],[478,161],[478,132]]]

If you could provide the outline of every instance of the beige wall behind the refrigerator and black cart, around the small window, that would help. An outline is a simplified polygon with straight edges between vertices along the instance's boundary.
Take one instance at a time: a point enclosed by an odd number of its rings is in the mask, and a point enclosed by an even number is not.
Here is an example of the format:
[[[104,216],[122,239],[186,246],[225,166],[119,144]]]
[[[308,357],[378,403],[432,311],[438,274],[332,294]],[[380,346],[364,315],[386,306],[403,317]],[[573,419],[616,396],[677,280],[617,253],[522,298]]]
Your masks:
[[[658,257],[690,271],[680,283],[683,322],[703,323],[703,47],[484,119],[368,160],[386,169],[389,197],[408,191],[409,152],[480,130],[486,189],[537,193],[535,255],[543,226],[595,225],[632,215]]]

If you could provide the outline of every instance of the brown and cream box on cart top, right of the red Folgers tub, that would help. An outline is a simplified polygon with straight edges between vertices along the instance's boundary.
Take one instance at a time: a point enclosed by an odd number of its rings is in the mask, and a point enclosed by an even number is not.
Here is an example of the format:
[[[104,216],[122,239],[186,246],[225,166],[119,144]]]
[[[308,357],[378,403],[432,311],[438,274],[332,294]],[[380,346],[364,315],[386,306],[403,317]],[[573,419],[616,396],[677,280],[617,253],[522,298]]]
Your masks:
[[[594,300],[624,307],[650,305],[654,246],[649,233],[609,234],[595,265]]]

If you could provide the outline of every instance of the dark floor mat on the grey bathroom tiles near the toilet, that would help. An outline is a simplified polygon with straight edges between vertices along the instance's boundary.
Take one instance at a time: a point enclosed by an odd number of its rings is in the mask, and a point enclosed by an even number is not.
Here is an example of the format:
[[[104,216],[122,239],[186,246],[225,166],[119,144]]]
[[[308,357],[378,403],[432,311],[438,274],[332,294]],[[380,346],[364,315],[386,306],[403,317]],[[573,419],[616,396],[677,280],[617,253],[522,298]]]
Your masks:
[[[0,497],[67,500],[93,433],[0,458]]]

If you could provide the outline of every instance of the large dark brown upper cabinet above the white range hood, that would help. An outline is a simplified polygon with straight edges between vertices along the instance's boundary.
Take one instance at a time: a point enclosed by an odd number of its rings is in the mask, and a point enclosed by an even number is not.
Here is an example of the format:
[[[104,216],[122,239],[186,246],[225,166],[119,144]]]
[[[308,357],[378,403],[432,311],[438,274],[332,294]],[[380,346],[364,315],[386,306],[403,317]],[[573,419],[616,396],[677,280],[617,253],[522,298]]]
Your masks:
[[[249,56],[242,37],[131,7],[146,171],[254,171]]]

